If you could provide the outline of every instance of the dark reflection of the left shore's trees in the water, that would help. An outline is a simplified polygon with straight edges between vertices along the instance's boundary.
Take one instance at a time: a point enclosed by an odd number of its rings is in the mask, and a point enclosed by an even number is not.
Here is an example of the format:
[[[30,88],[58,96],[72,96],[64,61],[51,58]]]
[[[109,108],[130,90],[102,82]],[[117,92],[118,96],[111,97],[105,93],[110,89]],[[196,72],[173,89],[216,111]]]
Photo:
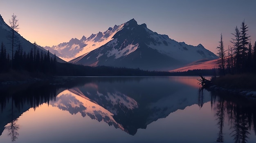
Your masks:
[[[29,89],[29,90],[28,90]],[[19,125],[17,124],[18,117],[27,109],[33,107],[36,109],[39,105],[43,103],[48,103],[49,101],[54,100],[56,97],[56,90],[55,86],[35,86],[28,87],[22,90],[1,90],[0,93],[2,94],[0,104],[1,104],[1,111],[10,104],[11,108],[8,111],[6,117],[1,117],[0,122],[3,120],[6,123],[4,129],[6,129],[9,133],[8,136],[11,137],[11,141],[16,141],[18,139],[18,130]],[[7,107],[8,108],[8,107]],[[4,118],[4,119],[3,119]],[[1,129],[2,127],[0,127]],[[0,130],[2,132],[2,130]]]

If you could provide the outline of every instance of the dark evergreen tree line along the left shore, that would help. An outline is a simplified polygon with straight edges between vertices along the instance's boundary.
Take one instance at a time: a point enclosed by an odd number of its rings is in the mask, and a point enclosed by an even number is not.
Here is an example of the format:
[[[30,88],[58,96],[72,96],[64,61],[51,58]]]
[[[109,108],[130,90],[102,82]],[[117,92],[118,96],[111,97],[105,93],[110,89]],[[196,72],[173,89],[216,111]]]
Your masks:
[[[19,43],[12,60],[6,52],[3,42],[1,44],[0,72],[7,72],[10,69],[14,69],[17,71],[25,70],[53,75],[55,73],[56,63],[56,55],[54,54],[54,57],[50,56],[49,50],[47,53],[44,52],[44,54],[43,50],[39,52],[36,42],[34,43],[34,48],[31,48],[29,52],[23,51]]]

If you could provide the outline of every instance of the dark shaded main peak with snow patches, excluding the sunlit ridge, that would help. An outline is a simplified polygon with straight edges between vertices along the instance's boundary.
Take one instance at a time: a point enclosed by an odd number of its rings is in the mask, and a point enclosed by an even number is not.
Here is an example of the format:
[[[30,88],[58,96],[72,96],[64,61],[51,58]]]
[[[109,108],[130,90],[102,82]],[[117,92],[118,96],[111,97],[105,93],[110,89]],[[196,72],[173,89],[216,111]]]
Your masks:
[[[203,58],[218,57],[201,44],[191,46],[176,42],[166,35],[151,31],[146,24],[138,25],[132,19],[124,23],[105,45],[71,60],[70,63],[166,71]]]

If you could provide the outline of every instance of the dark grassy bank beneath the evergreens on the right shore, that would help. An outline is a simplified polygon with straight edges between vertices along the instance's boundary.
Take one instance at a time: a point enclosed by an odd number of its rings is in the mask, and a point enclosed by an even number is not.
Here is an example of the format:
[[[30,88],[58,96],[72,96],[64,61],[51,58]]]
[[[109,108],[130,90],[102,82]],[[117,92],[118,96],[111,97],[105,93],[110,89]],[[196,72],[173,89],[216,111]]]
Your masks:
[[[256,90],[256,74],[225,75],[212,78],[213,85],[227,89],[253,89]]]

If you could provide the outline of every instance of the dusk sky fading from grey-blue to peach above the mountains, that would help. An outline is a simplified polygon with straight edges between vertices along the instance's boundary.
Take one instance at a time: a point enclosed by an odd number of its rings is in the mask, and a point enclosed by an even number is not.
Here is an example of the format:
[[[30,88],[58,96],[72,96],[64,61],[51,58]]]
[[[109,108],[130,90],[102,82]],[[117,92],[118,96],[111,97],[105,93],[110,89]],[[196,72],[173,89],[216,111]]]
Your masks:
[[[245,20],[256,41],[256,0],[0,0],[9,25],[14,13],[18,32],[40,46],[58,45],[121,25],[132,18],[148,29],[188,45],[202,44],[217,54],[220,34],[227,47]]]

